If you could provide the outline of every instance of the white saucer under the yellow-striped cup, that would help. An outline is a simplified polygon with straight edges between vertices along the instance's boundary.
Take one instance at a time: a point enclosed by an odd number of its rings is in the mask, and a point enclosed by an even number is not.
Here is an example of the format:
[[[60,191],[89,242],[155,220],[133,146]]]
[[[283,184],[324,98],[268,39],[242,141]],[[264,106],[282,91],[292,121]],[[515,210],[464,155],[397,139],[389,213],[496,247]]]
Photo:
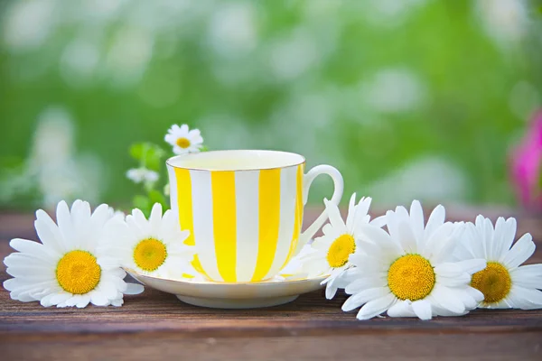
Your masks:
[[[126,268],[125,268],[126,269]],[[256,309],[294,301],[300,294],[320,290],[326,276],[276,279],[265,282],[210,282],[169,280],[126,269],[135,280],[156,290],[173,293],[183,302],[213,309]]]

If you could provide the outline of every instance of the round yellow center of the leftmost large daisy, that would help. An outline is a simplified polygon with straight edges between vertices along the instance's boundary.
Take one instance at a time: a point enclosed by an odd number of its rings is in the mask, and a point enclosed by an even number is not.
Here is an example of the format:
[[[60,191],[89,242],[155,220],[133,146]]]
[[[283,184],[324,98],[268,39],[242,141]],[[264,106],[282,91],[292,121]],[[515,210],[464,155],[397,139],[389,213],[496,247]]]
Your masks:
[[[101,267],[96,257],[87,251],[70,251],[56,268],[56,278],[61,288],[73,294],[84,294],[98,286]]]

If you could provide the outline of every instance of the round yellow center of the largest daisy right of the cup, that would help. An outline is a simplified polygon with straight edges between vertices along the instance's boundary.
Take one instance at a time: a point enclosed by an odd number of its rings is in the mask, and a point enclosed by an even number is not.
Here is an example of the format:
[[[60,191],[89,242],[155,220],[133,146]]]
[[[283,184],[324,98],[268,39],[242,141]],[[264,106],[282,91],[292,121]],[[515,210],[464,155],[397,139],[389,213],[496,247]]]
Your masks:
[[[433,266],[421,255],[403,255],[389,267],[388,287],[399,300],[422,300],[434,286]]]

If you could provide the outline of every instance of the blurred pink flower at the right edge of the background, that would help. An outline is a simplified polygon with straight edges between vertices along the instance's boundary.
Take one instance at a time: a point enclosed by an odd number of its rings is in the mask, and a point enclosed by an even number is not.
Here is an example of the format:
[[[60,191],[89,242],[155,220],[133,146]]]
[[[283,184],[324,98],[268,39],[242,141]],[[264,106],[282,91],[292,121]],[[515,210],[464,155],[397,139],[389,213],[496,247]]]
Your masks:
[[[512,152],[512,181],[525,208],[542,210],[542,111],[531,120],[527,133]]]

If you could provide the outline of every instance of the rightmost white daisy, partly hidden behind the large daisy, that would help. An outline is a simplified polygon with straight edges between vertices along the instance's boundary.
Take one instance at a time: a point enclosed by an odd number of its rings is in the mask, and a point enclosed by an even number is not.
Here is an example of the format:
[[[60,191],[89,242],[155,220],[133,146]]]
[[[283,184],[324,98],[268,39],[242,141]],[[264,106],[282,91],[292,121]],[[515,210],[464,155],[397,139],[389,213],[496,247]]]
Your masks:
[[[489,218],[478,216],[476,224],[467,225],[459,259],[483,258],[487,266],[472,275],[471,286],[480,290],[488,309],[534,310],[542,308],[542,264],[522,265],[535,252],[528,233],[512,245],[516,219],[497,219],[495,228]]]

